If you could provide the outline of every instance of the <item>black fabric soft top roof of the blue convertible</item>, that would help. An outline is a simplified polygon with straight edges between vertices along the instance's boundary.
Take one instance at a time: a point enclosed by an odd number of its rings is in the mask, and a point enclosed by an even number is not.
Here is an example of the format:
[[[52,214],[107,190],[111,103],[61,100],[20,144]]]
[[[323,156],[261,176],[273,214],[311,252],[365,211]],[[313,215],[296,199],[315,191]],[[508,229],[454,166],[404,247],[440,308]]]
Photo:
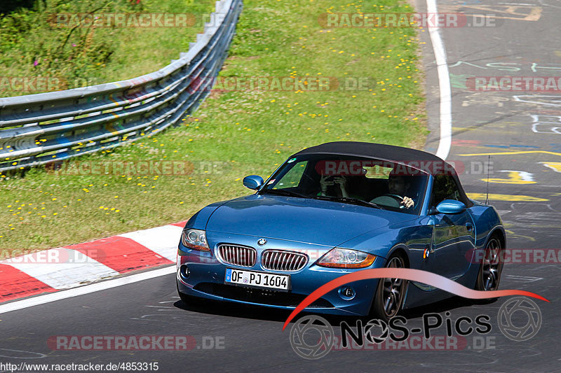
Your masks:
[[[290,157],[298,157],[299,155],[311,155],[311,154],[337,154],[337,155],[352,155],[357,157],[370,157],[377,158],[379,160],[387,160],[390,162],[400,162],[407,164],[410,167],[422,169],[431,175],[448,174],[454,178],[456,181],[459,192],[461,195],[461,200],[467,206],[471,206],[472,203],[468,199],[464,188],[462,187],[458,174],[451,164],[442,160],[442,158],[437,157],[434,154],[424,152],[422,150],[416,150],[412,148],[403,148],[402,146],[387,145],[384,143],[365,143],[359,141],[334,141],[331,143],[323,143],[321,145],[312,146],[311,148],[306,148],[300,150],[298,153],[291,155]],[[421,162],[431,162],[438,164],[439,167],[433,166],[422,166]],[[419,164],[420,167],[415,167],[415,164]]]

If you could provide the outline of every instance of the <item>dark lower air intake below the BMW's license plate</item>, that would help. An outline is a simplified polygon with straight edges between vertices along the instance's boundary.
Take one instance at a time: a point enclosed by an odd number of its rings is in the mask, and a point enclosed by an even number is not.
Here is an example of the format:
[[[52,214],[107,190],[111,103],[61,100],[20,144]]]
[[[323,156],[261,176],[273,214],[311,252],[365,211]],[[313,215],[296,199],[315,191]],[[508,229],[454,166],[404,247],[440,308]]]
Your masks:
[[[243,302],[269,304],[274,306],[297,307],[306,298],[304,294],[290,292],[245,288],[222,283],[198,283],[194,290],[224,297],[227,300],[241,300]],[[313,301],[309,308],[334,308],[333,304],[323,298]]]

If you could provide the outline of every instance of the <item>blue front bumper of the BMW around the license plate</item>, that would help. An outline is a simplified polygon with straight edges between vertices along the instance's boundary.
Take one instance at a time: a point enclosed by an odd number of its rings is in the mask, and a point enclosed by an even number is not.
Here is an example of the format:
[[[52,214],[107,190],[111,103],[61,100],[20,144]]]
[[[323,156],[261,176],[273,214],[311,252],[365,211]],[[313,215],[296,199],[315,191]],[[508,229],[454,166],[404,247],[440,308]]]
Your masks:
[[[257,260],[253,267],[229,265],[221,262],[215,255],[215,248],[219,244],[235,242],[236,244],[248,246],[248,244],[255,243],[259,237],[227,234],[227,237],[220,237],[221,239],[218,239],[218,237],[212,237],[212,235],[212,232],[207,232],[209,244],[211,241],[215,242],[214,246],[210,246],[211,252],[194,251],[182,246],[180,243],[180,251],[177,256],[178,270],[176,273],[177,288],[180,293],[208,300],[222,300],[239,304],[292,310],[320,286],[333,279],[337,279],[339,276],[356,271],[356,269],[332,269],[314,265],[316,260],[331,248],[311,244],[288,243],[287,241],[274,239],[268,239],[266,248],[256,248]],[[253,247],[255,247],[255,244]],[[276,272],[263,269],[260,265],[262,251],[270,248],[305,250],[308,253],[317,254],[309,255],[309,262],[298,272]],[[312,258],[312,256],[316,258]],[[368,269],[384,267],[385,262],[384,258],[378,257]],[[181,267],[182,271],[179,270]],[[291,289],[288,292],[283,292],[226,284],[224,283],[224,276],[227,268],[290,274]],[[349,283],[346,286],[351,286],[354,290],[354,296],[351,299],[342,294],[342,288],[337,288],[320,297],[309,307],[306,307],[305,311],[346,316],[367,315],[370,311],[377,285],[378,279]]]

